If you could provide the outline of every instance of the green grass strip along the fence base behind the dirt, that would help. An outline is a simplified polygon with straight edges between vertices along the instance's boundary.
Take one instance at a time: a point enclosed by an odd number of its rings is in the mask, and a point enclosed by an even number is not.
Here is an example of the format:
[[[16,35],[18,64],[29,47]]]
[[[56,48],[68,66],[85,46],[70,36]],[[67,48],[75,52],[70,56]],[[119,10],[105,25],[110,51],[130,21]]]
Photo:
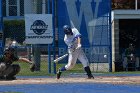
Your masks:
[[[19,76],[54,76],[55,74],[53,73],[53,66],[52,66],[52,73],[48,73],[48,64],[46,61],[41,62],[41,70],[40,71],[35,71],[31,72],[29,69],[29,64],[24,63],[24,62],[18,62],[18,64],[21,66],[21,71],[18,74]],[[52,64],[53,65],[53,64]],[[65,64],[56,64],[56,69],[64,66]],[[82,67],[82,64],[76,64],[74,68],[72,68],[69,71],[64,72],[64,74],[69,74],[69,73],[85,73],[84,68]],[[122,72],[92,72],[92,73],[102,73],[102,74],[140,74],[140,71],[122,71]]]

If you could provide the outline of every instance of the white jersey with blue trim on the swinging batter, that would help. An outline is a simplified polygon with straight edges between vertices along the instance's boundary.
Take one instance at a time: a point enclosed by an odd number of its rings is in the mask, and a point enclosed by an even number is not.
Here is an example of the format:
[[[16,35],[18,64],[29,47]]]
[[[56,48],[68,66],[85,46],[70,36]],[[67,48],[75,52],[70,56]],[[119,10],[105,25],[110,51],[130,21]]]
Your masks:
[[[77,47],[77,38],[81,36],[79,31],[76,28],[72,28],[73,35],[64,36],[64,42],[67,44],[68,49],[75,50]]]

